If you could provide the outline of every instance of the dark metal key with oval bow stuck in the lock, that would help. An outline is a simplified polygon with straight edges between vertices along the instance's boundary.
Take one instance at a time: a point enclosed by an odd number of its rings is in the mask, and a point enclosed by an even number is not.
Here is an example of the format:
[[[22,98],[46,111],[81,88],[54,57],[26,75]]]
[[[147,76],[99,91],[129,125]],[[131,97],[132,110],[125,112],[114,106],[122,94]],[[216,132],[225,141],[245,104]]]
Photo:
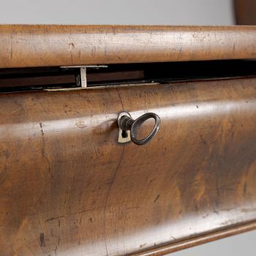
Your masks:
[[[150,118],[154,118],[154,128],[152,131],[146,136],[146,138],[143,138],[139,140],[137,138],[138,131],[141,127],[141,125],[147,121]],[[137,119],[133,120],[129,113],[127,112],[122,112],[118,116],[118,127],[124,131],[129,131],[130,130],[130,136],[131,140],[133,143],[136,145],[145,145],[150,141],[154,136],[157,134],[160,126],[160,118],[157,116],[155,113],[146,113],[143,114],[142,116],[138,117]]]

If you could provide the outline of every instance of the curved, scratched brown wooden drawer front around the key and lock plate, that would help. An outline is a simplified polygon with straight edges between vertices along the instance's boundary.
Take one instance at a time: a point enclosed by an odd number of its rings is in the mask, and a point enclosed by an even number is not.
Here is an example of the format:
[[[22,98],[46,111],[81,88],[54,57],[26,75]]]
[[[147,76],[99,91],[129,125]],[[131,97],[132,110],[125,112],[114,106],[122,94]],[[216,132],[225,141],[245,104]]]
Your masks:
[[[116,118],[162,122],[118,144]],[[256,225],[256,78],[0,94],[0,255],[162,255]],[[149,125],[149,124],[148,124]]]

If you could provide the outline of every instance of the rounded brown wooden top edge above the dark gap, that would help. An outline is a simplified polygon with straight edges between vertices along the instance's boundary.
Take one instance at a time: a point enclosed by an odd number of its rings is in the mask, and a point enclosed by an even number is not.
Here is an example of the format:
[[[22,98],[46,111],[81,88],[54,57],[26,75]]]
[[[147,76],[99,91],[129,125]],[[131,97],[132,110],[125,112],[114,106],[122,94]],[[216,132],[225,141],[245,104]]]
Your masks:
[[[255,59],[256,26],[1,25],[0,68]]]

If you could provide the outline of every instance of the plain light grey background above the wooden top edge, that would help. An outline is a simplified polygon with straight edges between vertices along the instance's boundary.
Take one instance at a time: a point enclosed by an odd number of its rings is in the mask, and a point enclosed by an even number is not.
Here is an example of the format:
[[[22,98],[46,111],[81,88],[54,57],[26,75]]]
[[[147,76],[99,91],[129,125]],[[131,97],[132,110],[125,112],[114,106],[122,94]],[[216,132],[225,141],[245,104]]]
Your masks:
[[[0,23],[234,23],[230,0],[0,0],[0,3]]]

